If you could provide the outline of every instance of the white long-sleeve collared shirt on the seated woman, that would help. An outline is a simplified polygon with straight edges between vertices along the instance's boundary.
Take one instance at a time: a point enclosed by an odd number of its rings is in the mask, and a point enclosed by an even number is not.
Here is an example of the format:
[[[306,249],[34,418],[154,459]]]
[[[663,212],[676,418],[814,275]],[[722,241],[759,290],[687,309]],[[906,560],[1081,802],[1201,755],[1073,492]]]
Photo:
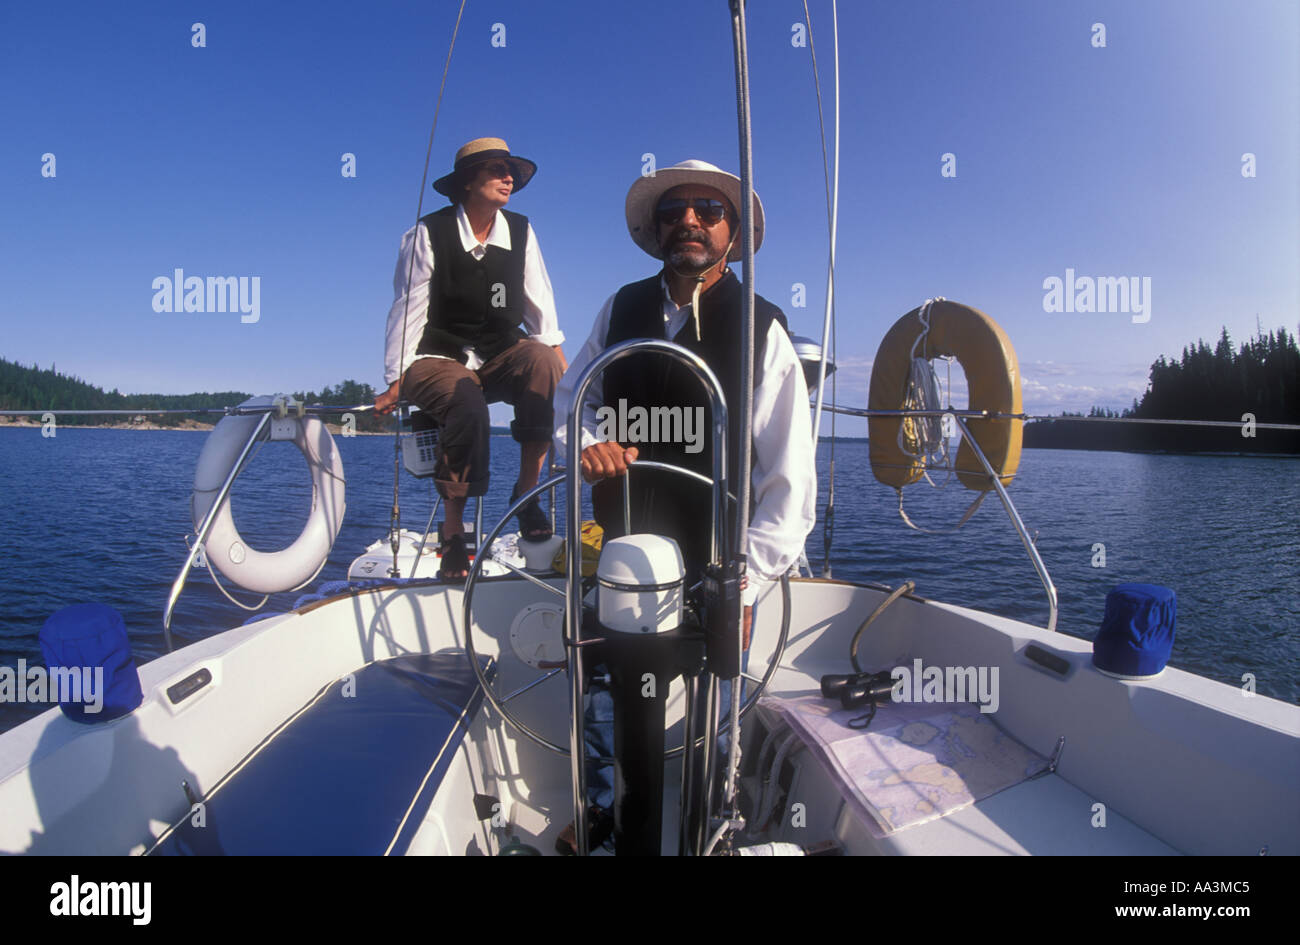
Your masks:
[[[510,224],[504,214],[497,211],[488,239],[482,243],[474,237],[473,227],[465,208],[456,205],[456,225],[460,230],[460,246],[474,259],[482,259],[488,253],[489,246],[497,246],[510,251]],[[411,252],[415,251],[415,266],[411,269],[411,304],[407,305],[406,286],[407,269],[411,266]],[[402,234],[402,248],[398,252],[398,268],[393,274],[393,292],[396,296],[389,309],[389,325],[384,341],[384,383],[391,385],[400,373],[411,367],[417,357],[443,357],[443,355],[417,355],[420,339],[424,337],[424,325],[429,317],[429,279],[433,277],[433,246],[429,242],[429,229],[424,224],[416,224]],[[407,313],[406,329],[406,356],[402,356],[402,315]],[[542,260],[542,250],[537,246],[537,234],[533,225],[528,225],[528,247],[524,251],[524,331],[542,344],[562,344],[564,333],[560,331],[559,318],[555,315],[555,292],[551,291],[551,277],[546,273],[546,263]],[[469,356],[465,367],[477,370],[482,367],[482,359],[472,347],[465,348]]]

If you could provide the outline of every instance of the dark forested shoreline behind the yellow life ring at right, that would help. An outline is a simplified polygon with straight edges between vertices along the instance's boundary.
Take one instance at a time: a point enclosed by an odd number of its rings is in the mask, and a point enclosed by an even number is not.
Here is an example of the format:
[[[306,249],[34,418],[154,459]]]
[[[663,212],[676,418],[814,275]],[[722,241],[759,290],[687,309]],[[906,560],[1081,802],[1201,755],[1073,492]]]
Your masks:
[[[1069,416],[1069,415],[1067,415]],[[1078,415],[1084,416],[1084,415]],[[1093,407],[1089,417],[1213,420],[1231,426],[1106,424],[1039,420],[1024,425],[1024,446],[1057,450],[1300,454],[1300,430],[1260,424],[1300,424],[1300,348],[1286,329],[1244,342],[1236,350],[1225,328],[1210,348],[1183,348],[1179,360],[1161,355],[1150,365],[1141,400],[1115,412]]]

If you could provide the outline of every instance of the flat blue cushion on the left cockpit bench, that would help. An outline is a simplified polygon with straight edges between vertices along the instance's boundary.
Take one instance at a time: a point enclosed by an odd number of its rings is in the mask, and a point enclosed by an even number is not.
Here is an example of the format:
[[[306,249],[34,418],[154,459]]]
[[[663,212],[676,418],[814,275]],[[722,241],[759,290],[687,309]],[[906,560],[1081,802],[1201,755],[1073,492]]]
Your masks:
[[[462,650],[369,663],[321,690],[208,792],[202,819],[191,809],[150,853],[406,853],[482,698]]]

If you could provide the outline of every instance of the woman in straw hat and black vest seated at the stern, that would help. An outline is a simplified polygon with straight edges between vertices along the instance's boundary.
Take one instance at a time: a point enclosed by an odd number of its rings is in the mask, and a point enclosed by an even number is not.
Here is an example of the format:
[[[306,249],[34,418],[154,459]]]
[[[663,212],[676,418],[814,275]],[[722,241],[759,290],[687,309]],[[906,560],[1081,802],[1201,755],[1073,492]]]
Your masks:
[[[537,485],[554,430],[564,334],[537,235],[528,217],[503,209],[536,172],[499,138],[472,140],[433,185],[451,205],[402,237],[385,348],[389,389],[374,407],[389,413],[404,396],[442,430],[434,480],[445,503],[443,580],[469,575],[463,519],[465,500],[488,491],[488,404],[515,407],[520,460],[511,502]],[[519,524],[525,541],[551,537],[537,499],[520,510]]]

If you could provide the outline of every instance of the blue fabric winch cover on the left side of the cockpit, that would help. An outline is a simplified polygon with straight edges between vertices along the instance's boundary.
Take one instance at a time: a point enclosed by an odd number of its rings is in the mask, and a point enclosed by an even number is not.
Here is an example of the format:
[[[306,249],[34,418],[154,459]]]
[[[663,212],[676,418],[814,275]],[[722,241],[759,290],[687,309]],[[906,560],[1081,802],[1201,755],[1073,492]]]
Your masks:
[[[58,697],[58,707],[73,721],[118,719],[144,699],[126,623],[108,604],[77,603],[53,614],[40,628],[40,653],[51,697]],[[73,675],[78,682],[66,684]],[[55,689],[60,677],[61,692]]]

